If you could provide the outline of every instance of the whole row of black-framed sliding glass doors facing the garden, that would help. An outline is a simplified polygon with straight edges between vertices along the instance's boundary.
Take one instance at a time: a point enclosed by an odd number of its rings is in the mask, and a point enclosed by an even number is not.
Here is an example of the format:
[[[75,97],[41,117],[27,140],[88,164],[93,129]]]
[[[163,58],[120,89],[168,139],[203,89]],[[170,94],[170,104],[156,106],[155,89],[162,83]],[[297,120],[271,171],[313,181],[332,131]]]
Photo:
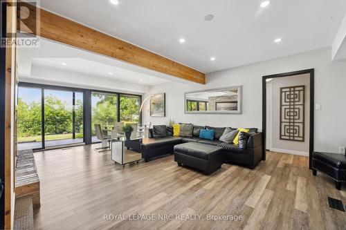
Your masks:
[[[18,149],[100,142],[95,124],[108,134],[114,122],[136,129],[141,102],[140,95],[19,83]]]

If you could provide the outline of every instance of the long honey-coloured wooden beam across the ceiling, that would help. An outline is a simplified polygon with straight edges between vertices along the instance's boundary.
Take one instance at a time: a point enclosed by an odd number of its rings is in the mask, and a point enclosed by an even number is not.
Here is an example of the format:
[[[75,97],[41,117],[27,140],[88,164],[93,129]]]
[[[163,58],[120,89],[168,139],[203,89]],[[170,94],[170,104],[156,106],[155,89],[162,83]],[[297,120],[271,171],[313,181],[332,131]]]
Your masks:
[[[31,13],[29,17],[24,20],[21,19],[21,21],[33,31],[36,31],[35,25],[37,19],[35,10],[39,10],[40,31],[38,36],[40,37],[126,61],[129,64],[155,70],[159,73],[172,75],[199,84],[206,84],[206,75],[193,68],[179,64],[166,57],[156,55],[154,52],[111,37],[80,23],[76,23],[75,21],[71,21],[70,19],[60,17],[52,12],[36,8],[28,3],[19,2],[19,6],[25,6],[30,10]],[[19,10],[21,9],[24,8],[19,7]],[[19,31],[20,30],[23,29],[19,28]]]

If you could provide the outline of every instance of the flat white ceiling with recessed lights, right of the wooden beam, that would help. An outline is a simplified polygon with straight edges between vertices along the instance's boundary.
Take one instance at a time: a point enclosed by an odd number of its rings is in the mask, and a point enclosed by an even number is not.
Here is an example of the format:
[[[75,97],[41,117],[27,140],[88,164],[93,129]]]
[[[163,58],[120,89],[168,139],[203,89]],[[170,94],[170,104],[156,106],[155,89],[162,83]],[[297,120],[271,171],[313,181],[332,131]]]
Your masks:
[[[271,0],[264,9],[262,0],[119,2],[41,0],[41,6],[204,73],[331,46],[346,12],[345,0]],[[215,19],[204,21],[208,14]]]

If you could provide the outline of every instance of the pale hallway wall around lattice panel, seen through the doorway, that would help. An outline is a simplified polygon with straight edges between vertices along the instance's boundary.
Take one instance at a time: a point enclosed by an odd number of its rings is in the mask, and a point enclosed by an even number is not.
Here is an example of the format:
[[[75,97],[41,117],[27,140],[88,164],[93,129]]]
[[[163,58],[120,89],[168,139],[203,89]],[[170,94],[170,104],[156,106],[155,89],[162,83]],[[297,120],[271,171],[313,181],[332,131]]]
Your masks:
[[[300,153],[301,155],[309,155],[309,120],[310,120],[310,75],[296,75],[291,77],[278,77],[271,82],[267,83],[271,85],[272,98],[271,102],[267,97],[267,106],[271,103],[271,130],[267,128],[267,138],[271,136],[272,151],[277,152],[289,152]],[[295,142],[291,140],[280,140],[280,88],[289,86],[305,86],[304,93],[304,142]],[[267,114],[267,123],[269,115]],[[271,132],[271,135],[270,135]],[[268,146],[267,146],[268,148]]]

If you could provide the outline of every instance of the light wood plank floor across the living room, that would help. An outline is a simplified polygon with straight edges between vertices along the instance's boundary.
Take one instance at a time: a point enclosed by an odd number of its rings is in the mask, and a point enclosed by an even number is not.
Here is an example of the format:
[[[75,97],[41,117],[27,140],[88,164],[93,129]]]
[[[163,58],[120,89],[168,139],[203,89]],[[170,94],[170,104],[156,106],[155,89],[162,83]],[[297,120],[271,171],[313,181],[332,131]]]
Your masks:
[[[172,156],[116,166],[95,146],[34,153],[42,207],[35,229],[345,229],[346,214],[327,196],[346,203],[346,190],[318,173],[308,158],[267,154],[255,170],[224,164],[213,175],[179,167]],[[104,220],[104,214],[172,214],[174,220]],[[176,220],[176,214],[203,220]],[[191,214],[191,215],[188,215]],[[206,220],[242,215],[242,220]],[[109,215],[111,216],[111,215]],[[182,215],[181,215],[182,216]]]

